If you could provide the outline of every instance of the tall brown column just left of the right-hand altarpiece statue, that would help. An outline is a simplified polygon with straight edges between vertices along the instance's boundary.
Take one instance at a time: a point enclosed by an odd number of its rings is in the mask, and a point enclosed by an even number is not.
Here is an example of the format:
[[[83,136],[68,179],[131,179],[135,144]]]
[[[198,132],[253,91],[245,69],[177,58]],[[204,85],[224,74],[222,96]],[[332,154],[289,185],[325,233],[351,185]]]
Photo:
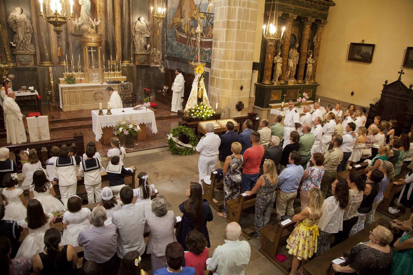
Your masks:
[[[121,37],[122,37],[122,51],[121,60],[124,64],[131,64],[131,5],[128,0],[123,0],[121,5]]]

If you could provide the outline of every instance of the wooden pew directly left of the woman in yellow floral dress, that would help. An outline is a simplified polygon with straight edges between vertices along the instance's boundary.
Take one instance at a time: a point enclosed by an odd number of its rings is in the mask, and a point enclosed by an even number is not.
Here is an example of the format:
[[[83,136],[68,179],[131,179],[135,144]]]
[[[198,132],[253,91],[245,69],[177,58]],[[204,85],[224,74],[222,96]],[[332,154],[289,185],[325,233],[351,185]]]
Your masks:
[[[285,274],[288,274],[291,269],[291,261],[280,263],[276,256],[280,240],[290,235],[291,231],[289,229],[292,229],[292,225],[295,223],[295,221],[287,222],[287,220],[285,220],[285,222],[280,221],[269,224],[259,230],[261,239],[261,248],[259,251]]]

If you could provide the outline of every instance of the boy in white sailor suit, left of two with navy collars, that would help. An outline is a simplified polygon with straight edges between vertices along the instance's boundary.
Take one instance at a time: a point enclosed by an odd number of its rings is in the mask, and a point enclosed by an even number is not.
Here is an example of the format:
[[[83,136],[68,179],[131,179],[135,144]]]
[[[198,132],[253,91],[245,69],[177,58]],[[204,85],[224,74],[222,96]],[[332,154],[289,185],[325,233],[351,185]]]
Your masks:
[[[59,183],[60,200],[64,208],[67,208],[67,200],[71,195],[76,195],[77,180],[81,179],[76,173],[75,157],[69,156],[69,148],[60,149],[60,157],[56,159],[54,167],[55,177],[53,184]]]

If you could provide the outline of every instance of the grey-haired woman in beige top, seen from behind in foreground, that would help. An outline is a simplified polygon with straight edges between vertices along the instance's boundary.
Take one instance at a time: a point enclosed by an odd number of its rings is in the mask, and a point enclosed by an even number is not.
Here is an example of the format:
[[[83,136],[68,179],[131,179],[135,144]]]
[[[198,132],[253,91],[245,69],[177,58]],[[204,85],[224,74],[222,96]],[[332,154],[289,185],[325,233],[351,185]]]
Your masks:
[[[147,254],[151,254],[152,273],[166,265],[165,247],[176,242],[173,228],[176,224],[175,214],[166,208],[166,201],[157,197],[152,200],[152,212],[155,216],[146,219],[146,229],[149,231]]]

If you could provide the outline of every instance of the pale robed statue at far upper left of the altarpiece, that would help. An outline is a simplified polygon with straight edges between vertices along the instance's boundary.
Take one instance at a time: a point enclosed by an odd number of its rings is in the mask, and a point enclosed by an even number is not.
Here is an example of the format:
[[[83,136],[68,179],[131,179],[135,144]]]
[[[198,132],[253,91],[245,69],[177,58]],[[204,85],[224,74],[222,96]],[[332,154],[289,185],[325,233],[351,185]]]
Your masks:
[[[10,28],[16,33],[13,37],[13,43],[16,45],[17,51],[35,52],[34,46],[31,42],[31,34],[33,33],[33,26],[28,21],[23,9],[16,7],[15,11],[10,13],[7,18]]]

